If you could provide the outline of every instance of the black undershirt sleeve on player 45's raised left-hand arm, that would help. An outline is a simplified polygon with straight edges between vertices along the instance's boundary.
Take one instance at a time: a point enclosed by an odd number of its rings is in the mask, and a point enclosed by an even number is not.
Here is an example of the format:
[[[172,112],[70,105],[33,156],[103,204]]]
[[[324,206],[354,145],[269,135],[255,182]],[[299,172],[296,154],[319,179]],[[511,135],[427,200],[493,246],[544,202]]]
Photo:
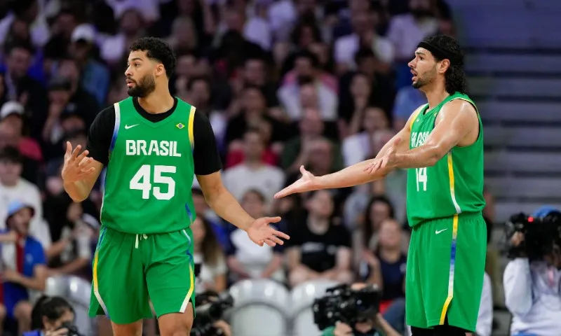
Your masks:
[[[109,162],[109,147],[114,128],[115,107],[111,105],[97,114],[88,132],[88,144],[86,145],[86,149],[90,152],[88,156],[101,162],[104,166],[107,166]]]

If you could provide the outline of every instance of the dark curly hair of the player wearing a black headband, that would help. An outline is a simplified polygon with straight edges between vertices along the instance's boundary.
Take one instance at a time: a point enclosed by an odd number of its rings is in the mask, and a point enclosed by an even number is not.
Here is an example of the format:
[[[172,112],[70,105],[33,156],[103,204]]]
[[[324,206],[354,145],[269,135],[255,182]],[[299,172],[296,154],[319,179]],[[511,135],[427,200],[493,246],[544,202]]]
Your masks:
[[[438,48],[457,55],[461,62],[450,62],[450,67],[445,73],[445,88],[449,94],[460,92],[466,94],[468,92],[468,83],[466,81],[466,73],[464,72],[464,52],[462,52],[458,41],[450,36],[437,35],[424,39],[425,42],[438,46]],[[442,58],[433,55],[437,62],[442,61]]]

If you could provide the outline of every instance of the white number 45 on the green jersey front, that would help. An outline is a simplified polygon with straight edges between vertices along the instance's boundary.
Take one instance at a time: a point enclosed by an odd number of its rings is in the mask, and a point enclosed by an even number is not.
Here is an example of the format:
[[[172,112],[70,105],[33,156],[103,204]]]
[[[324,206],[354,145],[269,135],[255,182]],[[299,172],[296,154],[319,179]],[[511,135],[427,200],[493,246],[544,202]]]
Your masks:
[[[150,193],[156,197],[156,200],[171,200],[175,195],[175,181],[170,176],[164,176],[162,174],[175,174],[175,166],[160,166],[156,165],[154,167],[154,179],[151,179],[151,165],[142,165],[140,169],[136,172],[133,179],[130,179],[128,184],[131,190],[142,190],[142,198],[148,200],[150,198]],[[167,188],[161,188],[155,186],[152,188],[152,183],[158,183],[167,186]],[[167,191],[162,192],[162,190],[167,189]]]

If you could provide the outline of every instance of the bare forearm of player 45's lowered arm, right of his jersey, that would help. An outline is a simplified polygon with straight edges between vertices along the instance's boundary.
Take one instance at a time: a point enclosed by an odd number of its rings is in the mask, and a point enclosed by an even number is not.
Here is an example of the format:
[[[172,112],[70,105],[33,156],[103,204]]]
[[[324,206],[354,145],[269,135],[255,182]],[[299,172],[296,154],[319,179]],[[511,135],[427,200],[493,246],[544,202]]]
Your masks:
[[[205,200],[218,216],[241,230],[247,231],[255,221],[255,218],[245,212],[236,198],[224,187],[210,195],[205,194]]]

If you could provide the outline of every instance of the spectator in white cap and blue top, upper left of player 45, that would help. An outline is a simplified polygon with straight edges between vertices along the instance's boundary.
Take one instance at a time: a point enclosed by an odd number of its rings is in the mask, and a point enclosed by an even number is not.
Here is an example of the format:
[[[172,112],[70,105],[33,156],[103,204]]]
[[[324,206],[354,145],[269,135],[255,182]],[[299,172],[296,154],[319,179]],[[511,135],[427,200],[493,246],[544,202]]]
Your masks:
[[[109,90],[110,74],[107,66],[91,57],[96,48],[95,38],[96,32],[92,25],[79,25],[72,31],[69,52],[80,66],[82,87],[93,94],[97,104],[103,105]]]

